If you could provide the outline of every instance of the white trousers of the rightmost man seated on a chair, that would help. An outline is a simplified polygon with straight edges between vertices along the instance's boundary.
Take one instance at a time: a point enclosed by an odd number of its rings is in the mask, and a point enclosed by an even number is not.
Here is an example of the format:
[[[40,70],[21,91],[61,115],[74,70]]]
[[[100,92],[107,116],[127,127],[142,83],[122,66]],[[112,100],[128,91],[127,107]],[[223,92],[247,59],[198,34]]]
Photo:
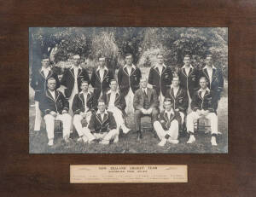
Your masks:
[[[194,133],[194,122],[200,118],[209,119],[211,122],[212,134],[218,134],[218,117],[215,113],[207,113],[206,116],[200,116],[196,112],[189,113],[187,116],[187,130]]]

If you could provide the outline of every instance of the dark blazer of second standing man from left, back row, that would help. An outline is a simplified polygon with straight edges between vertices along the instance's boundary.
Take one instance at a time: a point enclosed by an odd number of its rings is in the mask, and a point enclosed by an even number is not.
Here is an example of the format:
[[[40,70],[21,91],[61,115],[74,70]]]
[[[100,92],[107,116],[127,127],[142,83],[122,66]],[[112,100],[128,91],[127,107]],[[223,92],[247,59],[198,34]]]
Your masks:
[[[79,92],[81,91],[80,84],[82,79],[90,83],[88,72],[84,68],[79,67],[79,72],[77,76]],[[67,68],[63,73],[63,77],[61,78],[61,84],[67,87],[67,89],[65,89],[65,96],[67,98],[69,98],[72,94],[74,81],[75,80],[73,67]]]

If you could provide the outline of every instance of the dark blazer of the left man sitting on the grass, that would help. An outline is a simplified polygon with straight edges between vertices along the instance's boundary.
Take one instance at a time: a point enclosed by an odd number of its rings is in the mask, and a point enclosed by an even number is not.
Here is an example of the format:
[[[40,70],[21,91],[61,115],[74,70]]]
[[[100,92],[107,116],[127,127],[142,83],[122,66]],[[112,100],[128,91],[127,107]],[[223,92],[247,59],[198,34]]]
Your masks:
[[[103,133],[116,129],[113,113],[105,111],[103,119],[100,113],[92,113],[88,128],[92,133]]]

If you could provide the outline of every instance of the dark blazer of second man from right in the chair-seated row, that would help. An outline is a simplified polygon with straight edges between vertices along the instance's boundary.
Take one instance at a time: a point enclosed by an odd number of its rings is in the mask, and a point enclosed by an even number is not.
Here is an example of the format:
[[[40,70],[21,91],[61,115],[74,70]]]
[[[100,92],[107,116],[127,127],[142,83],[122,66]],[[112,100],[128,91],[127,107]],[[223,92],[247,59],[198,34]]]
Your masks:
[[[174,109],[179,109],[180,112],[186,113],[189,107],[189,97],[185,90],[179,87],[177,95],[174,96],[173,88],[169,89],[166,92],[166,98],[171,99]]]

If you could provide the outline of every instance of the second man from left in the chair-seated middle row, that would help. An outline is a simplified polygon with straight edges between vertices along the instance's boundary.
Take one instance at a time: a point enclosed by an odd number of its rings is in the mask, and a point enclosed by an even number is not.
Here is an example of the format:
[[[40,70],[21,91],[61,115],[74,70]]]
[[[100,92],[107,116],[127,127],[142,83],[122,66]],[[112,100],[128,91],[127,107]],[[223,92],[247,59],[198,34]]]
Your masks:
[[[88,125],[90,122],[91,113],[96,109],[96,100],[92,93],[88,91],[89,83],[82,80],[80,88],[82,91],[76,94],[73,98],[73,125],[78,131],[79,139],[78,142],[87,142],[87,138],[84,137],[84,125]],[[82,122],[84,124],[82,125]]]

